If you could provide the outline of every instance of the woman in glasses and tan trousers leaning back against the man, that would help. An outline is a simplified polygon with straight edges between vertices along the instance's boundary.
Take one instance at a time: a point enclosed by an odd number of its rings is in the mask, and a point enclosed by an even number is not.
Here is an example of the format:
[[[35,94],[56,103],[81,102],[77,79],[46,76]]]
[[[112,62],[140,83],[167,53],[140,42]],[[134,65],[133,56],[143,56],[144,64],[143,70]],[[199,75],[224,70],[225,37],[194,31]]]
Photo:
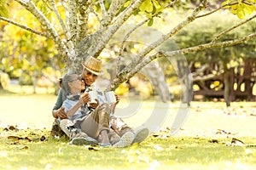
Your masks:
[[[90,96],[88,93],[81,94],[84,90],[84,83],[75,72],[67,72],[63,77],[62,89],[67,94],[67,99],[63,102],[62,107],[68,119],[73,122],[73,126],[81,129],[90,138],[98,139],[99,135],[102,137],[101,145],[112,145],[109,143],[109,105],[103,103],[98,105],[94,111],[90,111],[87,105],[90,103]]]

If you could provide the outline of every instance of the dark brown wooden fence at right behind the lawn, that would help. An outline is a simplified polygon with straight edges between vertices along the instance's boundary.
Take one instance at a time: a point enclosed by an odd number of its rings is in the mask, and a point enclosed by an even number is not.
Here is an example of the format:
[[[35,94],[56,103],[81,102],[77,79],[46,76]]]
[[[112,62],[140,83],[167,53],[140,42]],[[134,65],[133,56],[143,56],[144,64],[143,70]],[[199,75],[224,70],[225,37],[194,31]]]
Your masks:
[[[256,89],[256,59],[244,59],[242,64],[226,70],[221,67],[223,65],[212,63],[203,71],[201,79],[193,81],[193,85],[199,88],[194,91],[194,96],[224,98],[227,105],[236,99],[256,100],[256,92],[253,92]],[[195,65],[192,65],[192,73],[194,68]]]

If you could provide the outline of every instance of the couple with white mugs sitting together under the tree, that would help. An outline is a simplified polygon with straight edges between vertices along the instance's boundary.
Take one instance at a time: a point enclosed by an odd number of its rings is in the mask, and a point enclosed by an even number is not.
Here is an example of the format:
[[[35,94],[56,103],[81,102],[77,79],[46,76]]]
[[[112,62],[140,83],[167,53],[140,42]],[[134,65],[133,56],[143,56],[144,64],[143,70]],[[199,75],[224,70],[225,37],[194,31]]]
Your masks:
[[[71,139],[71,144],[100,144],[102,147],[125,147],[141,143],[148,137],[148,128],[137,132],[113,116],[119,96],[108,105],[102,91],[95,87],[96,78],[101,72],[102,61],[89,57],[82,64],[81,75],[68,71],[61,79],[52,115],[60,121],[61,130]],[[90,102],[89,92],[96,91],[96,102]]]

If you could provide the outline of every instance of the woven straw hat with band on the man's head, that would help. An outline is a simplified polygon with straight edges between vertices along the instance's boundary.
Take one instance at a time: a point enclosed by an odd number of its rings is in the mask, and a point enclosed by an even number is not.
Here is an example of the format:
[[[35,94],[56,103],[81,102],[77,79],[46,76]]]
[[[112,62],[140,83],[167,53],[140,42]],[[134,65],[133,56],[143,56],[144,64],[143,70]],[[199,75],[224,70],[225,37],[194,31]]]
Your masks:
[[[86,59],[82,65],[87,71],[92,72],[93,74],[99,75],[102,70],[102,61],[90,56]]]

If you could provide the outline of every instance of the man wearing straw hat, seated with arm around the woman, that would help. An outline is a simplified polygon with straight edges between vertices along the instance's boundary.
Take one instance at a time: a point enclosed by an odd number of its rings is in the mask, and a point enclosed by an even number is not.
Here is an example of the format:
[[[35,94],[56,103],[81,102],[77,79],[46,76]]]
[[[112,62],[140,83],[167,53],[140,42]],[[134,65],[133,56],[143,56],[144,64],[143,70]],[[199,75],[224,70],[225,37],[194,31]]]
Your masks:
[[[84,91],[90,92],[92,87],[95,87],[96,78],[100,74],[102,70],[102,61],[100,59],[96,59],[94,57],[89,57],[82,63],[84,67],[84,71],[81,74],[81,78],[84,81]],[[63,80],[62,80],[63,81]],[[105,103],[105,97],[100,89],[94,88],[97,92],[97,102],[94,104],[89,104],[87,109],[90,111],[95,110],[99,105]],[[55,103],[55,107],[53,109],[53,116],[55,118],[61,119],[61,130],[64,131],[70,139],[74,139],[77,137],[84,137],[82,140],[84,144],[90,143],[90,139],[87,138],[87,134],[83,132],[73,132],[71,129],[67,129],[70,127],[70,122],[67,120],[67,114],[64,111],[64,108],[61,107],[64,99],[67,98],[65,91],[62,89],[58,94],[57,101]],[[119,103],[119,97],[115,94],[116,102],[113,105],[110,105],[111,112],[111,129],[110,133],[108,133],[111,144],[115,144],[117,147],[125,147],[131,145],[133,143],[141,143],[144,139],[148,137],[148,128],[144,127],[137,130],[136,133],[133,132],[133,129],[129,127],[125,122],[123,122],[119,117],[113,116],[115,106]],[[87,98],[84,97],[84,103],[87,103]],[[77,131],[79,128],[73,130]],[[113,132],[114,130],[114,132]],[[74,134],[74,135],[73,135]],[[118,134],[118,135],[116,135]],[[120,137],[120,139],[119,139]],[[101,138],[100,138],[101,139]],[[75,140],[76,141],[76,140]],[[119,142],[118,142],[119,141]]]

